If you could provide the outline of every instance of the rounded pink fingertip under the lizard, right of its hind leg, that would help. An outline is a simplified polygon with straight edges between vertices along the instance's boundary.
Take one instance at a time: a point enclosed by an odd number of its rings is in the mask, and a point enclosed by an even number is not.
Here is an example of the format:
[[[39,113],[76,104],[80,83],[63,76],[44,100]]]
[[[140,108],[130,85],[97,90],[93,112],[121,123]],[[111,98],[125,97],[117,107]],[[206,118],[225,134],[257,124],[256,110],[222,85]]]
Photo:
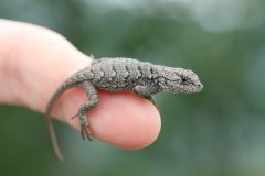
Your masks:
[[[131,92],[99,92],[102,101],[92,110],[89,123],[97,139],[120,148],[137,150],[151,144],[161,128],[157,108]]]

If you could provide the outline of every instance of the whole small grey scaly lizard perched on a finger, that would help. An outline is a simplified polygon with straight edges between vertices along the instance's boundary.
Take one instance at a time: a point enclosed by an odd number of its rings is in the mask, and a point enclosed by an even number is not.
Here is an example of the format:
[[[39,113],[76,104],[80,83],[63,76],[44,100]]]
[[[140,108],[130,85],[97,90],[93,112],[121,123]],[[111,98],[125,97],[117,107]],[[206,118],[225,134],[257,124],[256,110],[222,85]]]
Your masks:
[[[197,74],[183,68],[174,68],[140,62],[134,58],[100,58],[94,59],[91,66],[76,72],[68,77],[50,99],[45,119],[53,144],[54,153],[64,161],[57,144],[51,112],[57,98],[67,89],[84,88],[89,101],[84,102],[78,112],[72,117],[78,118],[82,138],[92,141],[92,133],[86,113],[98,105],[97,89],[108,91],[131,90],[136,95],[150,100],[157,108],[153,95],[161,91],[177,94],[194,94],[203,89]]]

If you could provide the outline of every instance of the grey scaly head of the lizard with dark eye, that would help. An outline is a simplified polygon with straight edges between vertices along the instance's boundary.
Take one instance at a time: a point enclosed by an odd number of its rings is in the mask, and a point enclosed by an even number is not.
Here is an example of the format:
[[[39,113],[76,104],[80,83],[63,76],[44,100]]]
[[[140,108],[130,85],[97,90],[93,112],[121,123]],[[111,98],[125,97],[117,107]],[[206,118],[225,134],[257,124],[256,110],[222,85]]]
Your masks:
[[[165,67],[158,77],[161,91],[192,94],[203,89],[195,73],[183,68]]]

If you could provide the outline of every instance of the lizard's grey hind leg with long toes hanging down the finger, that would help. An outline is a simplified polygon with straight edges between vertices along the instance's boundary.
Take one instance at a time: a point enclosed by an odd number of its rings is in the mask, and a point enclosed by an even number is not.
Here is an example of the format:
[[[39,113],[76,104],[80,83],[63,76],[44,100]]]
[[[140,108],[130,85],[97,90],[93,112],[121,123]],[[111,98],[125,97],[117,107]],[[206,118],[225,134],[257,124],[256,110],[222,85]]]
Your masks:
[[[78,110],[78,113],[76,116],[72,117],[71,119],[78,117],[82,138],[83,139],[87,138],[89,141],[92,141],[92,132],[89,129],[86,113],[97,106],[98,96],[97,96],[96,88],[88,80],[80,84],[80,86],[85,89],[86,95],[89,98],[89,100],[86,101],[85,103],[83,103]]]

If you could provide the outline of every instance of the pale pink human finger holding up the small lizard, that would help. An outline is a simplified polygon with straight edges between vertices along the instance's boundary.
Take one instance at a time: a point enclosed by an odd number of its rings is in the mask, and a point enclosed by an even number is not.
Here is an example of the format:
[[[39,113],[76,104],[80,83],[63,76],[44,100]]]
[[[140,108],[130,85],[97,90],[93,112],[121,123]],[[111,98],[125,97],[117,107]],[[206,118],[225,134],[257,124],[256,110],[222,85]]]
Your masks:
[[[22,22],[0,20],[0,103],[42,113],[56,88],[93,59],[60,34]],[[161,121],[151,102],[128,91],[98,92],[98,106],[87,113],[96,139],[128,150],[157,139]],[[57,100],[52,114],[80,131],[78,120],[71,117],[86,100],[82,88],[73,88]]]

